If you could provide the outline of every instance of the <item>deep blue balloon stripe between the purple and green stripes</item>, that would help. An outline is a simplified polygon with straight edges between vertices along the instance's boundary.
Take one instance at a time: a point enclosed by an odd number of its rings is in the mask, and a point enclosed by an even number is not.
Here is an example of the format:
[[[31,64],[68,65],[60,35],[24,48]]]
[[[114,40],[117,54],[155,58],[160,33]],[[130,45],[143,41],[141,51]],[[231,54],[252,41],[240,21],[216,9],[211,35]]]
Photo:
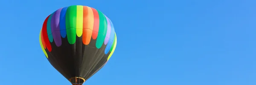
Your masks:
[[[61,9],[60,14],[60,30],[61,30],[61,37],[65,38],[67,36],[66,31],[66,11],[68,7],[64,7]]]

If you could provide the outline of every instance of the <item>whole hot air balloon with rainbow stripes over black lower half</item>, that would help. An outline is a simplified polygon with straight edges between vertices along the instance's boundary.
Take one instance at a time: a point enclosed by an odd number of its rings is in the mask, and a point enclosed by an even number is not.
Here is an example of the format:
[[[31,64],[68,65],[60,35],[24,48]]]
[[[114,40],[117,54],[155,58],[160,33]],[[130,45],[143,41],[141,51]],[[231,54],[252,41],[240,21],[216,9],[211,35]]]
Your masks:
[[[72,85],[82,85],[99,71],[116,48],[113,23],[88,6],[68,6],[50,14],[40,31],[40,45],[50,64]]]

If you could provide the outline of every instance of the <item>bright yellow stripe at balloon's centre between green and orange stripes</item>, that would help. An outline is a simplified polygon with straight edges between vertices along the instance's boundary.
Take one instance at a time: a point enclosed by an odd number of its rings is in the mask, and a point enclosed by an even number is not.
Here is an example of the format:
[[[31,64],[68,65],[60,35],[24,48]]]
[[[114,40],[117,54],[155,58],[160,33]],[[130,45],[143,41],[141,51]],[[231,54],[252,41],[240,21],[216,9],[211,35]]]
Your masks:
[[[83,6],[76,6],[76,35],[81,37],[83,34]]]

